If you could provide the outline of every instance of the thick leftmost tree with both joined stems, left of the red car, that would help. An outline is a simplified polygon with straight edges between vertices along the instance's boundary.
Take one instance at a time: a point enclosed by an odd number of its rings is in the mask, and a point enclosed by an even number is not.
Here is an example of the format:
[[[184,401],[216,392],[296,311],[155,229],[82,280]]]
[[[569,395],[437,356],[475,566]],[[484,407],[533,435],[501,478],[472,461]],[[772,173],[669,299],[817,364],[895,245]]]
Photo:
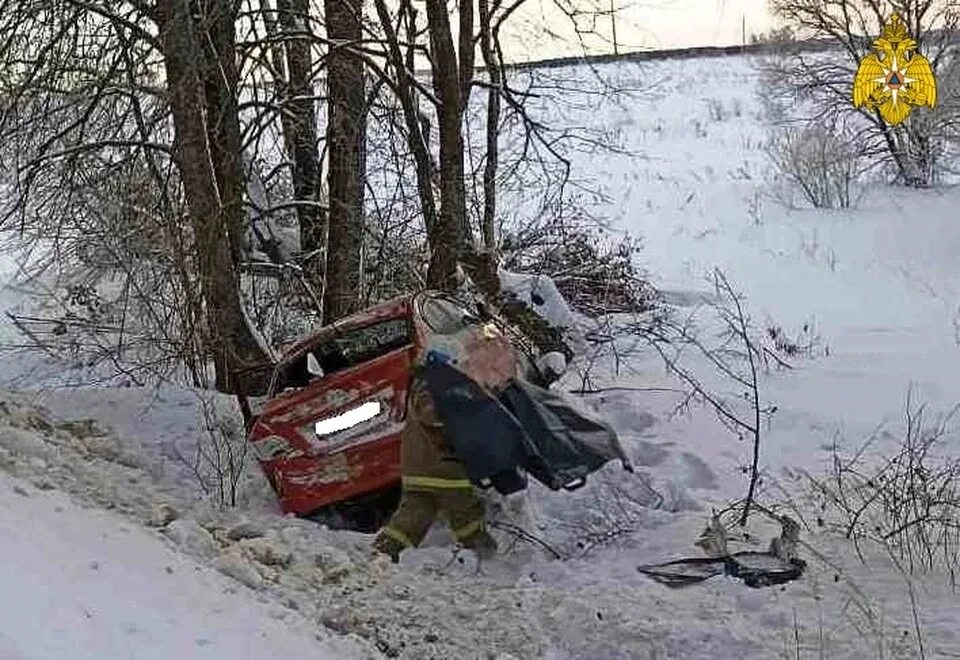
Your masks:
[[[157,22],[176,160],[190,209],[208,331],[215,348],[216,385],[230,391],[233,371],[268,358],[247,322],[235,268],[244,186],[232,4],[210,0],[204,8],[208,11],[201,14],[203,22],[198,25],[186,0],[159,0]]]

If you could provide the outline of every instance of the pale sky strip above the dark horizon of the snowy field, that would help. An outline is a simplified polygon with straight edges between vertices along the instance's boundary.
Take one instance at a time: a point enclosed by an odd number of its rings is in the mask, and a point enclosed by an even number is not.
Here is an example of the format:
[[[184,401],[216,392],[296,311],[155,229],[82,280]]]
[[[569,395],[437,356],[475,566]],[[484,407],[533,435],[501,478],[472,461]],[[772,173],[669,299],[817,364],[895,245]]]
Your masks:
[[[583,12],[577,19],[583,46],[558,5]],[[620,52],[736,45],[743,21],[748,39],[772,24],[766,0],[612,0],[612,6]],[[611,0],[531,0],[507,35],[512,53],[507,57],[543,59],[578,54],[583,47],[590,53],[612,53],[610,7]],[[608,15],[594,16],[592,9]]]

